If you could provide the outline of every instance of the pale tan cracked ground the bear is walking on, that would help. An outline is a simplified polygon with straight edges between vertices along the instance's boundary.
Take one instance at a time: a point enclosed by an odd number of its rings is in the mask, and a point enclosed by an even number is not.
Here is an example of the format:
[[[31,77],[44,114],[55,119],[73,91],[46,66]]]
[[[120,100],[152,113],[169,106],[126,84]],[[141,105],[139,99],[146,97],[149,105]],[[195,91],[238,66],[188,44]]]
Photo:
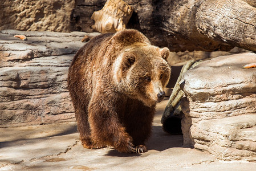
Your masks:
[[[76,123],[0,129],[0,170],[253,170],[256,163],[218,161],[197,149],[182,148],[181,135],[162,131],[168,99],[157,104],[149,151],[122,154],[85,149]]]

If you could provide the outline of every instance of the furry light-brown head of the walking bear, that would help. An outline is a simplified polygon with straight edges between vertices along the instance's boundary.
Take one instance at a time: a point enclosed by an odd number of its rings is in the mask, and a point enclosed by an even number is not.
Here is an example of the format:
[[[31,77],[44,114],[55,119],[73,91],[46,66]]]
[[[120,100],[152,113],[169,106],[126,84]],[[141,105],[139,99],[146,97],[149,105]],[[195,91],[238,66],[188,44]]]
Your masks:
[[[113,64],[113,79],[119,91],[149,107],[160,102],[170,78],[168,56],[168,48],[148,43],[124,47]]]

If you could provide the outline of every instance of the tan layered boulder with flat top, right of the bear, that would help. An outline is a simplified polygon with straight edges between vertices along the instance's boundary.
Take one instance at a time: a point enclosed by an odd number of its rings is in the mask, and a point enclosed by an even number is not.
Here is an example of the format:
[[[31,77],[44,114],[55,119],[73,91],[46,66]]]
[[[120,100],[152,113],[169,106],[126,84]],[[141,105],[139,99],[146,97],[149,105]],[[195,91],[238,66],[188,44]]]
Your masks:
[[[220,56],[184,74],[184,145],[222,160],[256,161],[256,54]]]

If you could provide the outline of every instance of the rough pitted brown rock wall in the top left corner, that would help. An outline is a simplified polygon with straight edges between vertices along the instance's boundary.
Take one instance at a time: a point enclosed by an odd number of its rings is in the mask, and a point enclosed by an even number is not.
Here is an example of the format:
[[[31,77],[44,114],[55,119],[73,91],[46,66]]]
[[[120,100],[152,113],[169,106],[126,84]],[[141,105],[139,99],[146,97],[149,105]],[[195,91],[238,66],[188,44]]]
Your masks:
[[[0,30],[69,32],[74,0],[3,1],[0,5]]]

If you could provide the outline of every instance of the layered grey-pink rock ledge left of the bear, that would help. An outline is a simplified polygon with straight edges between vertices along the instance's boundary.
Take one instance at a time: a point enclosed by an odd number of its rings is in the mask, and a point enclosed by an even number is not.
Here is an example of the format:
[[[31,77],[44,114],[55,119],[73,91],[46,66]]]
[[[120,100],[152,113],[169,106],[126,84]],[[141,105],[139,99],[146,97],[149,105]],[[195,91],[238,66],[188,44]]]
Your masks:
[[[67,73],[84,35],[99,33],[0,31],[0,127],[74,120]]]

